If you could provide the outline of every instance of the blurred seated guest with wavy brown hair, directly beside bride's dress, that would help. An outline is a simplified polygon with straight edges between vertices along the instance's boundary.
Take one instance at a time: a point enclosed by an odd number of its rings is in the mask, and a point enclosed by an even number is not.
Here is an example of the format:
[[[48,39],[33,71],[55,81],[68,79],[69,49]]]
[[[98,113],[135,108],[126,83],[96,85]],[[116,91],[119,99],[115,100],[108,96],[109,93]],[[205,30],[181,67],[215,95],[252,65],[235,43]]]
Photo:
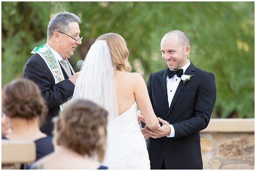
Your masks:
[[[31,169],[107,169],[105,155],[107,111],[87,100],[66,106],[55,120],[55,152]]]

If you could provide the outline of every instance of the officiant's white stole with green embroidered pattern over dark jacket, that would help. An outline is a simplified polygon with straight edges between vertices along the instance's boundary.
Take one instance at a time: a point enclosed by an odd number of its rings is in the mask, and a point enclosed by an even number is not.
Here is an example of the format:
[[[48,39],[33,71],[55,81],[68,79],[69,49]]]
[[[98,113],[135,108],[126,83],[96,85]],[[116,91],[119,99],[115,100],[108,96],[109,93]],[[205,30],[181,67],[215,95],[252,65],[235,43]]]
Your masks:
[[[55,84],[65,79],[62,69],[60,69],[58,59],[56,59],[56,57],[54,56],[54,54],[46,44],[35,47],[31,53],[32,54],[38,53],[44,59],[45,63],[47,64],[48,68],[52,73],[52,76],[55,80]],[[67,102],[64,102],[64,104],[60,105],[59,106],[60,110],[62,111],[66,105],[67,105]]]

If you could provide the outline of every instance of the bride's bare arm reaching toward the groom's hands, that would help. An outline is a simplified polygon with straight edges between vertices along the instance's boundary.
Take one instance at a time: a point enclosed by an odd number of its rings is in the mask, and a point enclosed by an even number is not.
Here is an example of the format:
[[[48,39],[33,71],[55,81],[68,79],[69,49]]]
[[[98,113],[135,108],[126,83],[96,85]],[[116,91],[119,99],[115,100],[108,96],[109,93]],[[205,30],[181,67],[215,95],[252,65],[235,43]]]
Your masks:
[[[137,104],[139,106],[140,112],[142,112],[142,115],[145,120],[145,124],[150,129],[156,129],[160,127],[159,120],[156,117],[156,114],[154,114],[153,107],[151,105],[151,101],[149,98],[149,93],[147,92],[147,87],[145,84],[145,81],[143,77],[138,73],[134,74],[134,95],[135,99],[137,101]]]

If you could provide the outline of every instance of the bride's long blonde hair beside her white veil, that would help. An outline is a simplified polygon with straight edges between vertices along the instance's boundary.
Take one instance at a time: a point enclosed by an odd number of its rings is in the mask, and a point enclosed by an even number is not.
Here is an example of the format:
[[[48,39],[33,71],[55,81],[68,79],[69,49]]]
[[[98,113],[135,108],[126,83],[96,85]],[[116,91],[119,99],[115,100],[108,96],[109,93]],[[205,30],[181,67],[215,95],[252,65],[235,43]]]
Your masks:
[[[99,36],[97,40],[106,40],[115,70],[124,72],[130,72],[132,70],[132,67],[128,62],[129,51],[122,36],[117,33],[106,33]]]

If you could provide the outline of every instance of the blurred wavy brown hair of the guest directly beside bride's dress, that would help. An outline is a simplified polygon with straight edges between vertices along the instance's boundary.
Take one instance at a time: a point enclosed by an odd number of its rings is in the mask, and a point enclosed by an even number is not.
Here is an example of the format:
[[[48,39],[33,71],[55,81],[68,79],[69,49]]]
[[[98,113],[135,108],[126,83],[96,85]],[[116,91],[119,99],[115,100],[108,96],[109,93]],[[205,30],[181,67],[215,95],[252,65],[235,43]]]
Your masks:
[[[107,111],[89,100],[78,99],[54,119],[55,144],[102,162],[106,146]]]

